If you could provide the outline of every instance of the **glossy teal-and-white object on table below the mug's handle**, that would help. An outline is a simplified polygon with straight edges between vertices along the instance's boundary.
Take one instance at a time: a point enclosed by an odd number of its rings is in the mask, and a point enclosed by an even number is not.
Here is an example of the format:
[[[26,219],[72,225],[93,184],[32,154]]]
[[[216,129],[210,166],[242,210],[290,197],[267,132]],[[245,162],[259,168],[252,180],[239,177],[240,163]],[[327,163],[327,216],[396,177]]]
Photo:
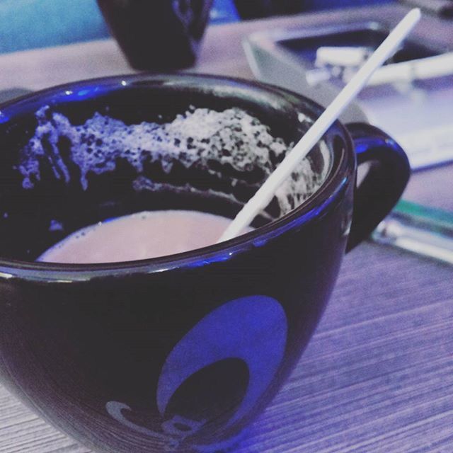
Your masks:
[[[402,200],[372,239],[453,264],[453,213]]]

